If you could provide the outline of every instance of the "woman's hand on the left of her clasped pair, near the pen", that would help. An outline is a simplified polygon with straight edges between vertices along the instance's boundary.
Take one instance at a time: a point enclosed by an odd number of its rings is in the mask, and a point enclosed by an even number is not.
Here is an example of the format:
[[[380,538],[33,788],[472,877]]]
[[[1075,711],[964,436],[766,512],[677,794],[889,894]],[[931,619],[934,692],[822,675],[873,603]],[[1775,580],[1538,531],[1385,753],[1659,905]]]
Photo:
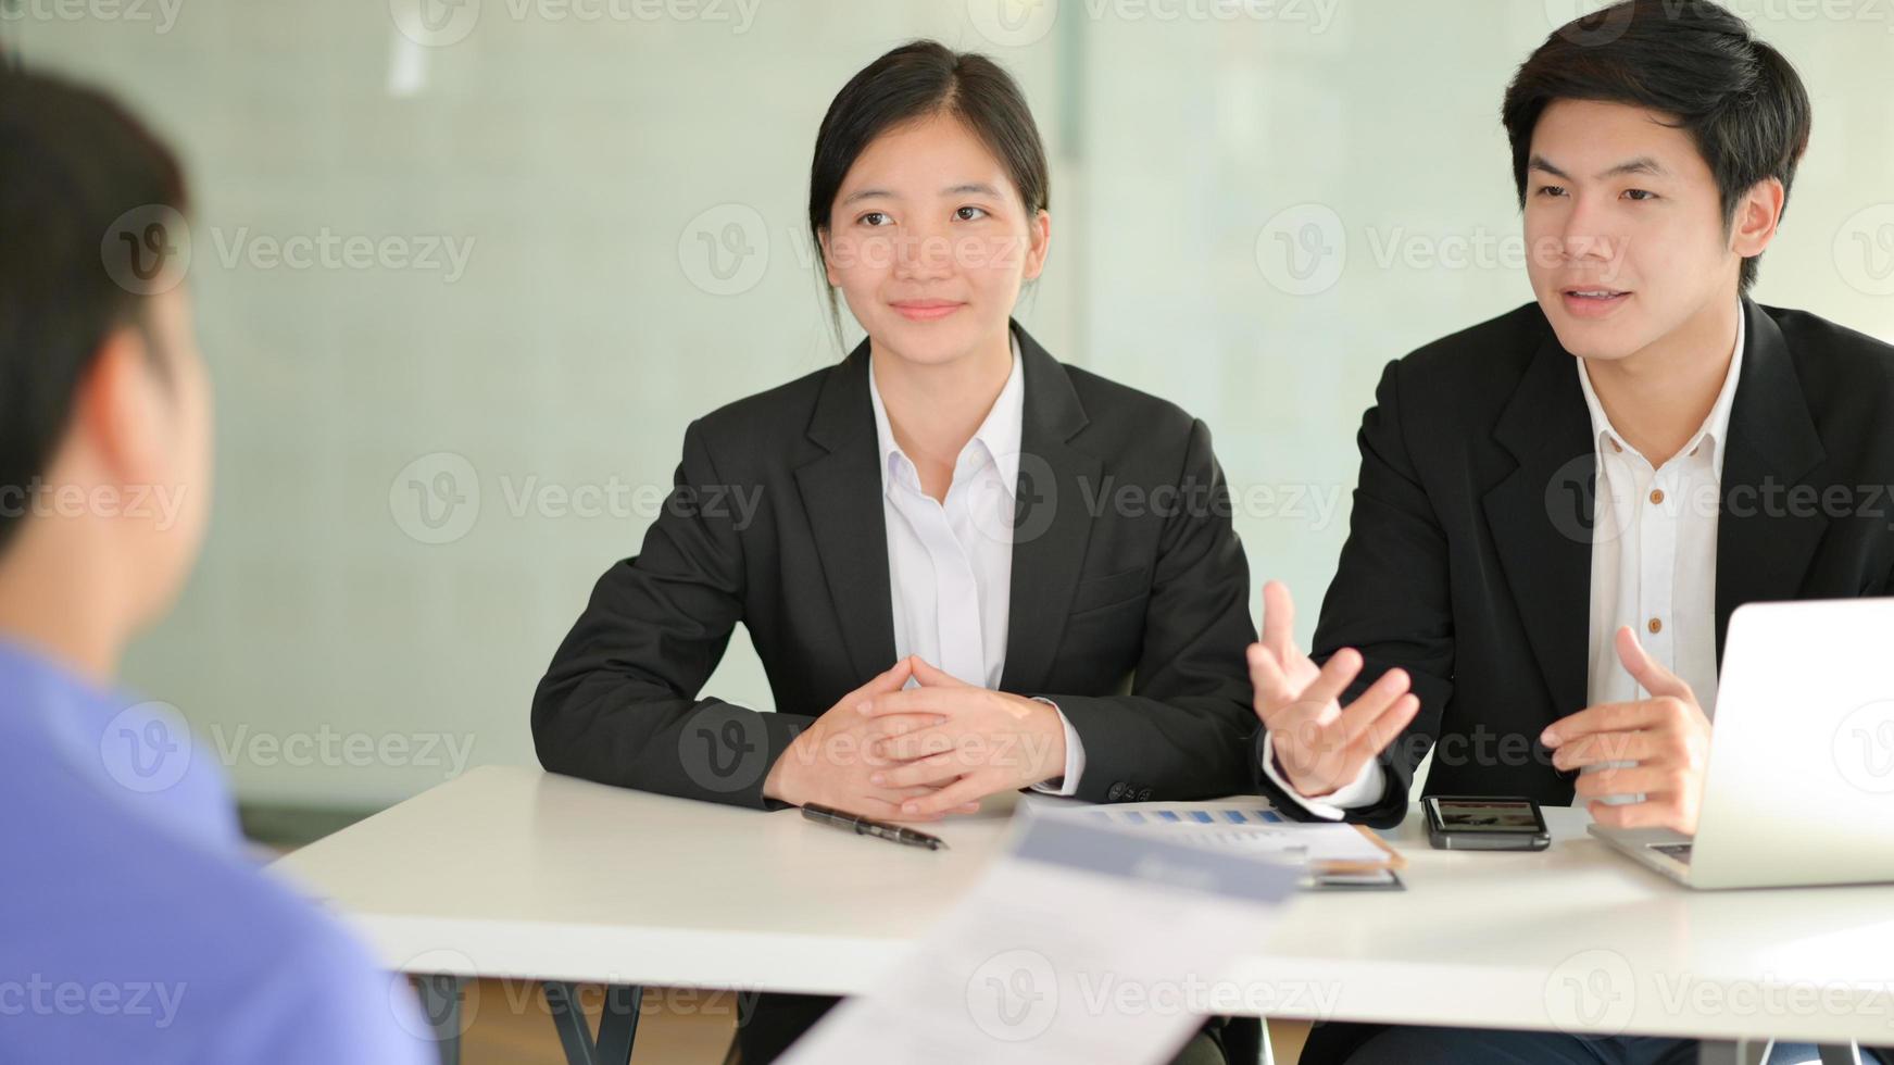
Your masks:
[[[902,803],[932,796],[936,786],[896,786],[871,781],[888,762],[873,752],[875,741],[900,731],[934,724],[932,714],[886,714],[869,718],[860,707],[888,692],[900,692],[913,677],[913,659],[903,658],[892,669],[849,692],[839,703],[805,728],[769,767],[763,796],[792,805],[822,803],[864,817],[905,821],[936,821],[951,811],[951,803],[934,813],[902,815]],[[974,807],[977,809],[977,805]]]

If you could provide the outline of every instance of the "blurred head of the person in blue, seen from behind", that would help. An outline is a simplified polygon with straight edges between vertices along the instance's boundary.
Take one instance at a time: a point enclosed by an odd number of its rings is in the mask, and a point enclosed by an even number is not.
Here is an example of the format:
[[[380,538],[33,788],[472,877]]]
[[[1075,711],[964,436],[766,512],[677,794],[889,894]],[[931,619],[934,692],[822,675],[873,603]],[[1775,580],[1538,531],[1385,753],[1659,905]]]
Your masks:
[[[93,673],[176,595],[208,515],[186,207],[104,93],[0,74],[0,627]]]

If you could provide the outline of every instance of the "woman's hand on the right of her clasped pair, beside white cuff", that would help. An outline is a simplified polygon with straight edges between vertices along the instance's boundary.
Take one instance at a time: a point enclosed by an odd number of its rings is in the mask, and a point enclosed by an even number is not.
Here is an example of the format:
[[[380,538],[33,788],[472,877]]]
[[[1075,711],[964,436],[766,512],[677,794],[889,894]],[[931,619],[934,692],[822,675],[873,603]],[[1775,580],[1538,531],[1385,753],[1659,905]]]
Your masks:
[[[900,762],[871,783],[888,788],[939,788],[902,803],[902,817],[938,817],[998,792],[1038,785],[1064,773],[1064,722],[1049,703],[964,684],[915,658],[920,688],[877,694],[862,714],[900,720],[875,745]],[[913,728],[932,716],[938,724]]]

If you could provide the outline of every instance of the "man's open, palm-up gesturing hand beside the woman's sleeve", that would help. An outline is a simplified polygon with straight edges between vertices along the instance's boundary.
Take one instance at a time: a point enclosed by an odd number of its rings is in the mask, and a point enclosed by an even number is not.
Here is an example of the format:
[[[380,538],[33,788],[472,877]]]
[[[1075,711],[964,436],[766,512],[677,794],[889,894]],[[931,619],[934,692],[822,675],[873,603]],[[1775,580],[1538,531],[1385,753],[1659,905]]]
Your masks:
[[[1390,669],[1343,709],[1341,694],[1362,673],[1362,654],[1343,648],[1318,669],[1295,646],[1294,629],[1290,589],[1265,584],[1263,641],[1250,644],[1256,716],[1290,785],[1305,798],[1322,798],[1362,775],[1415,718],[1420,699],[1407,692],[1407,673]]]

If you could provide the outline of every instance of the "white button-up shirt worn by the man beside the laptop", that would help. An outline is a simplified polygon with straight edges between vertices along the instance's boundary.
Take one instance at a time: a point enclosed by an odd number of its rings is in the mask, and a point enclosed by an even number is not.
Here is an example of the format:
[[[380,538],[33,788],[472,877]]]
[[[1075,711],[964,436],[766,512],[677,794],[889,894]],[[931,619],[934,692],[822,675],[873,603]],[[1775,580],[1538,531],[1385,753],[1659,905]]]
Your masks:
[[[1739,303],[1737,347],[1716,404],[1689,443],[1657,468],[1612,426],[1591,387],[1585,360],[1574,358],[1585,407],[1591,411],[1591,440],[1599,462],[1591,525],[1587,707],[1650,695],[1617,659],[1617,629],[1631,625],[1652,659],[1689,684],[1705,716],[1716,714],[1716,527],[1722,515],[1729,411],[1737,400],[1746,339],[1748,322]],[[1330,821],[1339,821],[1349,809],[1375,805],[1386,792],[1379,762],[1369,762],[1349,786],[1320,800],[1303,798],[1277,769],[1267,735],[1261,756],[1271,783]],[[1608,762],[1595,769],[1612,766],[1633,762]],[[1606,802],[1631,803],[1642,798],[1616,796]]]

